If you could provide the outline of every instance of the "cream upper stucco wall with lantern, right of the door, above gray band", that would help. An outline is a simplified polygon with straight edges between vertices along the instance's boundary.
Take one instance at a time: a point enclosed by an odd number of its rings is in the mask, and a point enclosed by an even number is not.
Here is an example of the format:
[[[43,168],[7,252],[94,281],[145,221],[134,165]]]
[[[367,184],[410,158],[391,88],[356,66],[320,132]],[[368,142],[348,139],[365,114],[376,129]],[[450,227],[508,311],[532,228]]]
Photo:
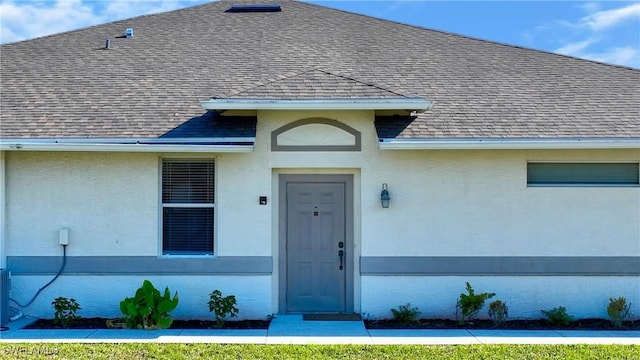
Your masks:
[[[527,187],[527,161],[640,150],[380,151],[362,170],[366,256],[638,256],[640,188]],[[391,205],[378,211],[380,183]],[[367,195],[365,195],[367,193]]]

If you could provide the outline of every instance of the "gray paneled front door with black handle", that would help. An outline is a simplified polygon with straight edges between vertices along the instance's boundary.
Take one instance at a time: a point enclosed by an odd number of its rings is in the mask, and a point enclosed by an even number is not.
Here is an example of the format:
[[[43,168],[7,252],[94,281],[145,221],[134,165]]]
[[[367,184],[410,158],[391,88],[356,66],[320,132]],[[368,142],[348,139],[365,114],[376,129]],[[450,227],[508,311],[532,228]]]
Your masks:
[[[346,312],[345,188],[286,183],[287,312]]]

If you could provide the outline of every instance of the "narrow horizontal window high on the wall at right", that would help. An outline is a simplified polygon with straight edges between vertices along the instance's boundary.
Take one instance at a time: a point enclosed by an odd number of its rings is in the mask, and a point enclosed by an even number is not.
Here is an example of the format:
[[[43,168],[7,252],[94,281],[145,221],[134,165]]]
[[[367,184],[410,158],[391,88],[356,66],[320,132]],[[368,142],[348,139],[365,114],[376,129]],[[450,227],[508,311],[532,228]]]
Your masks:
[[[527,185],[638,185],[638,163],[528,163]]]

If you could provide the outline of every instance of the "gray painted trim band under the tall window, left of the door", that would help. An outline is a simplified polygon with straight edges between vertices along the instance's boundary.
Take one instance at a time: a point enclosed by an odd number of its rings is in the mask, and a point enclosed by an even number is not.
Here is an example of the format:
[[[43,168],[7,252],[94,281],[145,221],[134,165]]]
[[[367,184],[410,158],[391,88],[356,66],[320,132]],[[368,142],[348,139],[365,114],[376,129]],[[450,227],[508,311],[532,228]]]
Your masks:
[[[60,256],[9,256],[7,269],[13,275],[55,274]],[[221,256],[158,258],[154,256],[68,256],[64,274],[104,275],[271,275],[270,256]]]

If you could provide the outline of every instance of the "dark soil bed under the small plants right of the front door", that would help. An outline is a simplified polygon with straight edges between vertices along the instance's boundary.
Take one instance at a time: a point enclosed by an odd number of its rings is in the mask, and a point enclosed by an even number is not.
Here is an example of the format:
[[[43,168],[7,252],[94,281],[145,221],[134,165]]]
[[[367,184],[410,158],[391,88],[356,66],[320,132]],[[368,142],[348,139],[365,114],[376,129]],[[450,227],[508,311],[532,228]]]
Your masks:
[[[417,323],[405,324],[396,320],[365,320],[367,329],[507,329],[507,330],[640,330],[640,321],[625,321],[617,328],[606,319],[580,319],[568,326],[550,326],[547,320],[509,320],[500,327],[491,320],[473,320],[464,326],[456,320],[420,319]]]

